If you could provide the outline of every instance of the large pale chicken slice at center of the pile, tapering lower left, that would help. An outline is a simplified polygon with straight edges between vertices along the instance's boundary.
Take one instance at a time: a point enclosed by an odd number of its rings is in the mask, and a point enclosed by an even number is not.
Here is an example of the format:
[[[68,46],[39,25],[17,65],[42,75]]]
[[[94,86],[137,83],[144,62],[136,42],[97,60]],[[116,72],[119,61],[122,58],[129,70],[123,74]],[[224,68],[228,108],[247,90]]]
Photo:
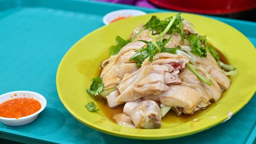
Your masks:
[[[134,101],[149,94],[160,94],[161,91],[168,89],[164,83],[164,74],[168,72],[167,67],[160,65],[147,65],[135,71],[133,76],[125,79],[117,86],[120,96],[117,102]],[[126,77],[125,77],[126,78]],[[171,78],[170,78],[171,79]]]

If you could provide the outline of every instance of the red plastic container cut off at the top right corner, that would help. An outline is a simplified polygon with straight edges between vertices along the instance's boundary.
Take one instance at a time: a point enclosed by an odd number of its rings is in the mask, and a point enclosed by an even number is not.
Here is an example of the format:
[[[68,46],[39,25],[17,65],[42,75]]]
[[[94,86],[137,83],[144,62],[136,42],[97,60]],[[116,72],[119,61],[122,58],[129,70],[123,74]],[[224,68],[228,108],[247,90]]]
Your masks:
[[[166,9],[202,14],[237,13],[256,7],[256,0],[148,0]]]

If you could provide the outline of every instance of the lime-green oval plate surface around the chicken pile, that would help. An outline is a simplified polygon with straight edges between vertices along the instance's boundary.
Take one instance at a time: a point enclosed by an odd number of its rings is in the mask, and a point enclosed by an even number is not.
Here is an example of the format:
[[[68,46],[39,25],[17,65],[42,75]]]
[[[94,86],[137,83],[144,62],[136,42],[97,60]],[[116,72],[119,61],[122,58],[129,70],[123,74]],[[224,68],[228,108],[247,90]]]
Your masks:
[[[232,84],[221,100],[195,116],[163,121],[161,129],[123,127],[109,120],[102,111],[87,111],[84,105],[95,101],[95,98],[89,96],[86,89],[91,85],[90,80],[98,75],[100,63],[109,57],[108,48],[115,44],[115,37],[120,35],[128,39],[132,30],[139,24],[145,24],[152,15],[164,19],[176,13],[153,13],[120,20],[93,31],[70,48],[59,64],[56,78],[59,98],[69,113],[83,124],[104,133],[152,140],[182,137],[209,129],[226,120],[228,112],[235,114],[249,102],[256,90],[256,50],[252,43],[223,22],[183,13],[182,17],[193,23],[195,31],[207,35],[208,41],[239,70],[238,75],[231,77]],[[193,118],[198,121],[193,122]]]

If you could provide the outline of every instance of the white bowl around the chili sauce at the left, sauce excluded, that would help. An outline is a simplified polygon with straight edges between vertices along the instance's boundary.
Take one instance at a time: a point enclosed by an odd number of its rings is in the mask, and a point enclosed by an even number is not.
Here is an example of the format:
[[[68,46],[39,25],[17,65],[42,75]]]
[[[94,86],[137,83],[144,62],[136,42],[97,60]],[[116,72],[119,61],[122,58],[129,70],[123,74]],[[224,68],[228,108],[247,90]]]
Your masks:
[[[14,96],[14,95],[17,95],[17,96]],[[15,98],[33,98],[41,103],[41,109],[39,109],[39,111],[29,116],[24,116],[19,119],[4,118],[0,116],[0,122],[8,126],[22,126],[22,125],[33,122],[37,118],[39,113],[41,113],[41,111],[45,109],[46,103],[47,103],[45,97],[42,96],[41,94],[37,92],[25,91],[25,90],[7,92],[5,94],[0,95],[0,103],[6,102],[7,100],[15,99]]]

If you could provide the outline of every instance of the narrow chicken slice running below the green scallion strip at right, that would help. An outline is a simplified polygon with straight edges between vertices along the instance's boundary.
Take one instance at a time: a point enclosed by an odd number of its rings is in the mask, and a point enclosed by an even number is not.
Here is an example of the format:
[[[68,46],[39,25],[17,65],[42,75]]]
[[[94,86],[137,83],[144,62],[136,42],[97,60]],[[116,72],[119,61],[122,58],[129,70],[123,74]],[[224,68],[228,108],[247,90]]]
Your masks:
[[[188,68],[182,69],[182,71],[179,73],[179,78],[184,82],[200,84],[200,85],[206,87],[206,89],[210,90],[210,92],[212,94],[211,97],[213,98],[213,100],[215,102],[217,102],[221,98],[222,91],[216,81],[211,81],[213,83],[213,85],[209,86],[206,83],[200,81],[197,78],[197,76],[195,76],[195,74],[193,74],[193,72],[191,72],[191,70],[189,70]],[[206,77],[204,77],[204,78],[206,78]]]

